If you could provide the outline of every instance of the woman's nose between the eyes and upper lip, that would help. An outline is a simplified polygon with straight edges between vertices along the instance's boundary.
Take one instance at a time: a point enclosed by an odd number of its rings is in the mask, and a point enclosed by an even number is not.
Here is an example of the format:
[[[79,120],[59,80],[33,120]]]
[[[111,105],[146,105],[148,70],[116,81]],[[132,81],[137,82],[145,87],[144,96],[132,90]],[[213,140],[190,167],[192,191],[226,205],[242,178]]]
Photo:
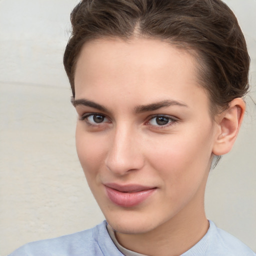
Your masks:
[[[144,164],[138,134],[130,128],[119,127],[113,132],[105,158],[106,167],[116,175],[139,170]]]

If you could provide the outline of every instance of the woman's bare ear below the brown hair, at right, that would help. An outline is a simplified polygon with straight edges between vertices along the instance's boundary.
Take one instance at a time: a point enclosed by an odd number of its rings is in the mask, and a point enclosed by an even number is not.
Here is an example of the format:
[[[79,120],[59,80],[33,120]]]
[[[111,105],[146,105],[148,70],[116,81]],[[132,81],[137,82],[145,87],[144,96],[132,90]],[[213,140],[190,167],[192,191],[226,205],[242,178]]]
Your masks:
[[[244,101],[241,98],[235,98],[230,102],[229,107],[217,116],[213,154],[222,155],[231,150],[241,126],[244,111]]]

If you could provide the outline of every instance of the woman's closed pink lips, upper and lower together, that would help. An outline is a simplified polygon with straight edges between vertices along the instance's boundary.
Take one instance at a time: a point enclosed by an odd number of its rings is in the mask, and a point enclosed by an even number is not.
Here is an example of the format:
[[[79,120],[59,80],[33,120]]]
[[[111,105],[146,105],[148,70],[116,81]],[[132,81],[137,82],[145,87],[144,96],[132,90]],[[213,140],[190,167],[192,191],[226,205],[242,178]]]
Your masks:
[[[114,204],[122,207],[136,206],[146,200],[156,190],[156,187],[137,184],[119,185],[116,183],[106,183],[104,185],[108,198]]]

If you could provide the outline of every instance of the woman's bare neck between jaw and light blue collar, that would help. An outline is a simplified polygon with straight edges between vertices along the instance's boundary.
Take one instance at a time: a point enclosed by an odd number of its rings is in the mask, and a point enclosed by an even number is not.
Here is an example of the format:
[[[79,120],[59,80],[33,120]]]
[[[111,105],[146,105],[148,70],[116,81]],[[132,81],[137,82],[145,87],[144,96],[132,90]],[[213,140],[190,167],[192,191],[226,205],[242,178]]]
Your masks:
[[[196,244],[209,227],[204,198],[200,197],[194,198],[173,218],[155,229],[136,234],[116,232],[116,239],[123,247],[145,255],[181,255]]]

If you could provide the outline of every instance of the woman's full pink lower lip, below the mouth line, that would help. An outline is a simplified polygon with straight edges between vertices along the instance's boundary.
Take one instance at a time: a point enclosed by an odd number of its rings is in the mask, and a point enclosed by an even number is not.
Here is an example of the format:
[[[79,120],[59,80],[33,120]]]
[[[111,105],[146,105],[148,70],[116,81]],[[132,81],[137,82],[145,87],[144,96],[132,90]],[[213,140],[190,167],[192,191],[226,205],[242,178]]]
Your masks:
[[[118,206],[122,207],[132,207],[143,202],[147,197],[149,197],[156,188],[145,189],[138,192],[120,192],[108,186],[105,186],[106,194],[108,198]]]

